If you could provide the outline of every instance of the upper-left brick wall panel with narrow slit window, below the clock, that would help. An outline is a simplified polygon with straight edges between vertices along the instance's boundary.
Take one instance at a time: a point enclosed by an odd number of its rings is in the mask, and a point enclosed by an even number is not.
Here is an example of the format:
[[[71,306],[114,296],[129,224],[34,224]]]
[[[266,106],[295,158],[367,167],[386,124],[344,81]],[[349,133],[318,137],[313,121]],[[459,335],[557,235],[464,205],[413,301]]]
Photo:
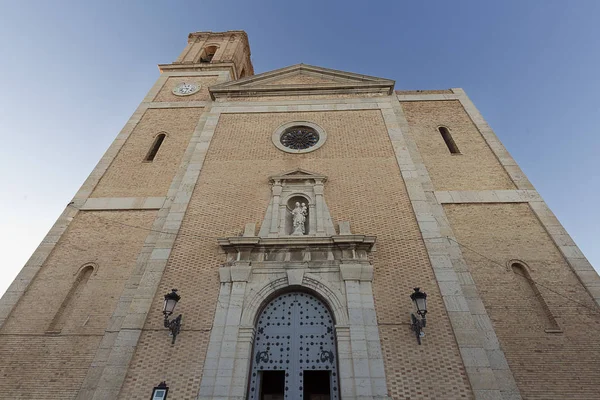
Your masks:
[[[165,196],[202,111],[202,108],[146,111],[91,197]],[[167,137],[154,161],[145,162],[160,132],[166,132]]]

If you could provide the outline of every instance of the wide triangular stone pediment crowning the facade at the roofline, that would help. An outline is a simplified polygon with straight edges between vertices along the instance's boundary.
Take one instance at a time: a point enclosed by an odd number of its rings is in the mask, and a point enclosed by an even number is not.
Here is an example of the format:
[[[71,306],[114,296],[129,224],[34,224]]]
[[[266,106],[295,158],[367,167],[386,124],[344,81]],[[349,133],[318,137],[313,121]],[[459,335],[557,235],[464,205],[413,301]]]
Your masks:
[[[391,94],[394,83],[389,79],[297,64],[225,82],[209,90],[213,98],[327,93]]]

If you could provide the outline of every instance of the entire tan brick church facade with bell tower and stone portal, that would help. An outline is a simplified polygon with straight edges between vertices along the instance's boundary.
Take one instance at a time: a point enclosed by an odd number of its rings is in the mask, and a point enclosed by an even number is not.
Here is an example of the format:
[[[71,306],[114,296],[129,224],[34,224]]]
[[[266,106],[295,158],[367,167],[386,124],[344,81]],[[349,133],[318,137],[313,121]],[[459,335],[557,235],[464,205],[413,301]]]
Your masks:
[[[0,398],[598,397],[600,278],[463,90],[243,31],[159,68],[0,301]]]

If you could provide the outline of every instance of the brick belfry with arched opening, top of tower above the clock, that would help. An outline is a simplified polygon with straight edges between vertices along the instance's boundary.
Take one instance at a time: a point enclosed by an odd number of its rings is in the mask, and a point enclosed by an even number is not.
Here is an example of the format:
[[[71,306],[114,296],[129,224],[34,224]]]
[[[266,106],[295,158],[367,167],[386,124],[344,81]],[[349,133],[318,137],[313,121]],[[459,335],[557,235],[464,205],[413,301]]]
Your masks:
[[[244,31],[190,33],[188,44],[177,60],[158,67],[161,72],[226,69],[232,80],[254,75],[248,36]]]

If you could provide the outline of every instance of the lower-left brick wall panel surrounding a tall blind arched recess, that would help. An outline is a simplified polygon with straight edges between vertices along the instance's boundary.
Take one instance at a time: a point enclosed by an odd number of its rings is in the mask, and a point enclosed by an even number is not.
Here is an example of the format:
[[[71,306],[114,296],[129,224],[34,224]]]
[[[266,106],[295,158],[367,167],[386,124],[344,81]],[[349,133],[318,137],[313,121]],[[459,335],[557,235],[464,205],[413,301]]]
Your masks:
[[[80,212],[0,331],[1,399],[74,398],[132,273],[154,211]],[[97,268],[47,334],[82,265]]]

